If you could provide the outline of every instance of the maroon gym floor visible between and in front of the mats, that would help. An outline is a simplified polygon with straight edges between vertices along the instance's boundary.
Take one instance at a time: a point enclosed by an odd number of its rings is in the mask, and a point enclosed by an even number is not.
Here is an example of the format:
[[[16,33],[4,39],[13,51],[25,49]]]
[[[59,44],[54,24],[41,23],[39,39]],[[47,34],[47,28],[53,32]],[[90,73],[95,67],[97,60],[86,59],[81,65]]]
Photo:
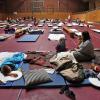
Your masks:
[[[88,30],[92,37],[95,48],[100,48],[100,34],[91,31],[89,28],[74,27],[80,31]],[[95,27],[94,27],[95,28]],[[100,29],[100,25],[96,25]],[[0,42],[0,52],[2,51],[55,51],[57,41],[48,40],[48,31],[50,28],[44,26],[45,32],[39,37],[37,42],[19,43],[14,37],[7,41]],[[66,34],[66,47],[73,49],[77,46],[77,39],[71,39]],[[76,100],[100,100],[100,90],[93,86],[71,87],[76,94]],[[0,98],[2,100],[70,100],[65,95],[59,94],[59,88],[39,88],[26,91],[25,89],[0,89]]]

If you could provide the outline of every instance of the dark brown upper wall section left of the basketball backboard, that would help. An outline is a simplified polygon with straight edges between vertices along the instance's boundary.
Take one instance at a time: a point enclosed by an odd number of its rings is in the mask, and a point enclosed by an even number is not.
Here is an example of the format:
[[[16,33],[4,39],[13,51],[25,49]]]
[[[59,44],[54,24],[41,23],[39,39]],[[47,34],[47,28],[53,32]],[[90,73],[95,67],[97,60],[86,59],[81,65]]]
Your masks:
[[[31,12],[32,0],[7,0],[6,1],[7,12]]]

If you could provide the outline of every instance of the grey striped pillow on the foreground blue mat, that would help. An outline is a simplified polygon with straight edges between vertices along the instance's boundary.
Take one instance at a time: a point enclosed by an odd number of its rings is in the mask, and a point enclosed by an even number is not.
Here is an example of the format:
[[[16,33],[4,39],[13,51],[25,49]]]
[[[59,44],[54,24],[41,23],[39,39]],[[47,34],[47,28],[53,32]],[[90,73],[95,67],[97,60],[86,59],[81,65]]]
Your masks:
[[[37,85],[45,82],[51,82],[51,78],[44,69],[34,69],[23,72],[25,86]]]

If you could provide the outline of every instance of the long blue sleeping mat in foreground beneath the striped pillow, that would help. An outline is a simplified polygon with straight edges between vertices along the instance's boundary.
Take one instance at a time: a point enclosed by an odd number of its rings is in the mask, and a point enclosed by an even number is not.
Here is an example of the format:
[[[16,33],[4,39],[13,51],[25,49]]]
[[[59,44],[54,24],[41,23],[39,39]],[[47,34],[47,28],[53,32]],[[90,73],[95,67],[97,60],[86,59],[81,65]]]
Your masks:
[[[23,71],[28,71],[29,70],[29,64],[25,63],[22,64],[22,70]],[[50,88],[50,87],[61,87],[65,85],[65,81],[63,79],[63,77],[59,74],[57,74],[56,72],[54,72],[53,74],[50,74],[50,77],[52,79],[52,82],[48,82],[48,83],[43,83],[43,84],[39,84],[39,85],[31,85],[31,87],[44,87],[44,88]],[[67,81],[66,81],[67,82]],[[68,82],[67,82],[68,83]],[[68,83],[69,86],[75,86],[74,84],[70,84]],[[88,79],[85,79],[81,84],[78,84],[78,86],[84,86],[84,85],[90,85],[90,82]],[[17,88],[22,88],[22,87],[26,87],[25,83],[24,83],[24,78],[20,78],[17,81],[14,82],[7,82],[6,84],[0,84],[0,88],[3,87],[17,87]]]

